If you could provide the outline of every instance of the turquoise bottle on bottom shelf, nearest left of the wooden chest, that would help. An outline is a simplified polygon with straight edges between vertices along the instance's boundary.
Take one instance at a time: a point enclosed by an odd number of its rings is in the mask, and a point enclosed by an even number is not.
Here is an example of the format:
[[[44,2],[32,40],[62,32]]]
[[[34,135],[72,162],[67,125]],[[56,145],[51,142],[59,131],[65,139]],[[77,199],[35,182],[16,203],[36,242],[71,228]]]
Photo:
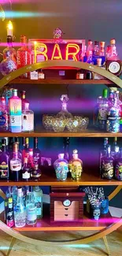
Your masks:
[[[43,191],[42,191],[42,189],[39,186],[35,186],[33,195],[35,198],[37,219],[41,219],[43,217]]]

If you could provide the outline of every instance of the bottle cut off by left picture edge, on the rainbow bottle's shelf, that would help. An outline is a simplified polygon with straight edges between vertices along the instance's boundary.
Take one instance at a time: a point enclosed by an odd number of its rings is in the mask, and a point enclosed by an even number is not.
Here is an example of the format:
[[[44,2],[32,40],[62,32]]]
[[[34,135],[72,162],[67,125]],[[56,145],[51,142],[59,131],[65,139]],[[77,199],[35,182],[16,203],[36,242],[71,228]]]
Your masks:
[[[0,98],[0,131],[7,131],[9,126],[9,115],[6,106],[6,98]]]

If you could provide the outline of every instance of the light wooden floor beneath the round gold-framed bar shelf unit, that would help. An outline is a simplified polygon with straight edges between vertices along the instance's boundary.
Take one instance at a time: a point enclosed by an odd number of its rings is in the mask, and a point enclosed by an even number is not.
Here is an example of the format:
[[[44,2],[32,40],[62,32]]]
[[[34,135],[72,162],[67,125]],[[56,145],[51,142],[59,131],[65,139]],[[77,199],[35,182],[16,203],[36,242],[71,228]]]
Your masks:
[[[24,235],[27,232],[24,232]],[[30,232],[28,236],[35,239],[74,239],[76,237],[90,235],[91,232]],[[0,256],[5,256],[8,250],[11,237],[4,232],[0,232]],[[122,229],[118,229],[108,236],[109,247],[112,256],[122,255]],[[102,239],[94,243],[82,246],[64,246],[64,247],[35,247],[33,245],[17,241],[11,251],[10,256],[103,256],[107,255],[105,244]]]

